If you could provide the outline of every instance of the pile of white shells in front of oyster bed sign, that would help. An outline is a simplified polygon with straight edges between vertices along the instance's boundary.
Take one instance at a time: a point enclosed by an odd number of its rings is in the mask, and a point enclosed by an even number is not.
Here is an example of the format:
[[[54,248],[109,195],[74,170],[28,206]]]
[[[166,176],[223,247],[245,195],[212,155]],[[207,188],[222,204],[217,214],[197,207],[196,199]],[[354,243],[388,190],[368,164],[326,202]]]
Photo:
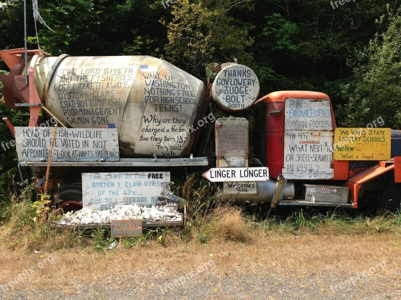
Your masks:
[[[155,206],[151,208],[130,204],[116,205],[105,210],[92,210],[82,208],[75,212],[67,212],[60,220],[61,225],[73,224],[108,224],[111,220],[142,219],[144,222],[154,221],[179,221],[181,216],[177,211],[159,210]]]

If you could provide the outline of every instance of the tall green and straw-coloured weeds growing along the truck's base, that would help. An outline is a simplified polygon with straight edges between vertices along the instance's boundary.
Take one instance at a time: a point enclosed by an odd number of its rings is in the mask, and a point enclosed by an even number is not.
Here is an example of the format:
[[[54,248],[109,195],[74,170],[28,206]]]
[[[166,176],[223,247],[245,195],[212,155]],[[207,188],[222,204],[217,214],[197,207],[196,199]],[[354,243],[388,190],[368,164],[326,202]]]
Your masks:
[[[222,204],[214,197],[215,187],[210,182],[198,182],[189,176],[180,188],[188,207],[188,218],[183,227],[143,229],[141,237],[111,238],[109,229],[73,230],[57,229],[51,221],[59,216],[49,214],[49,219],[38,224],[32,202],[32,187],[23,189],[19,196],[13,195],[3,208],[4,222],[0,242],[9,247],[27,250],[92,247],[104,252],[116,241],[125,248],[145,246],[156,241],[163,247],[178,242],[197,241],[207,244],[216,238],[247,242],[263,234],[370,234],[401,233],[401,212],[381,213],[375,216],[351,217],[346,213],[330,211],[325,214],[316,210],[300,208],[291,214],[274,215],[261,219],[261,214],[244,212],[243,209]],[[259,235],[258,235],[259,234]],[[261,235],[262,234],[262,235]]]

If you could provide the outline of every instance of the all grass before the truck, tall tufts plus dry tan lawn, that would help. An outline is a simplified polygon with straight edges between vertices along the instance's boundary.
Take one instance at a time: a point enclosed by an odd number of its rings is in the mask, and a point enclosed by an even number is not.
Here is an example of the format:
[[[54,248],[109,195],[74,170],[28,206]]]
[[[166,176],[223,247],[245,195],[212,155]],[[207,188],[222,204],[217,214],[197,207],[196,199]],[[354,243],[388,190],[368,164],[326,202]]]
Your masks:
[[[355,221],[298,213],[256,223],[240,208],[226,205],[184,228],[152,229],[142,238],[121,239],[114,249],[100,252],[93,249],[95,243],[110,243],[104,230],[85,236],[81,231],[52,230],[47,224],[32,226],[27,221],[30,206],[21,203],[15,209],[15,219],[0,228],[0,284],[37,265],[43,259],[40,255],[55,260],[20,286],[24,289],[62,289],[70,294],[77,285],[104,282],[107,276],[123,280],[124,274],[132,273],[167,280],[210,259],[221,276],[259,272],[347,277],[384,260],[386,276],[396,278],[400,272],[401,223],[396,215]]]

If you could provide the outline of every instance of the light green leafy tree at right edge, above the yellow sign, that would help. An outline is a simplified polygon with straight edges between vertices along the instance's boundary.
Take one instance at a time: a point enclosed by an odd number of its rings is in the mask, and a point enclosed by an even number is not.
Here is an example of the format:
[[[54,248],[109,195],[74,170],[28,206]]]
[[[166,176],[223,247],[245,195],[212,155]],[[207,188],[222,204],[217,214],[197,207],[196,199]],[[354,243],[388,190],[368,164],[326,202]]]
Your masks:
[[[349,101],[342,111],[342,125],[366,126],[381,116],[386,127],[400,129],[401,9],[389,11],[377,23],[385,30],[349,61],[354,75],[343,88]]]

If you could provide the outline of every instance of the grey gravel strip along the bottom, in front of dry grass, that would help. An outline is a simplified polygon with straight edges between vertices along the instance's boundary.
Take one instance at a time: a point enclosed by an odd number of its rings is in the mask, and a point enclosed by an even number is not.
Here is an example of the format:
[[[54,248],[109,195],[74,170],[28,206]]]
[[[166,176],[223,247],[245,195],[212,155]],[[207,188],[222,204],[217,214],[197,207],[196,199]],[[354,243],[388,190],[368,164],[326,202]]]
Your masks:
[[[380,270],[364,278],[346,281],[340,273],[282,275],[278,270],[243,272],[224,269],[209,260],[203,269],[115,274],[60,286],[56,290],[15,288],[2,299],[401,299],[401,273]],[[199,271],[199,273],[197,273]],[[51,280],[51,278],[49,278]],[[179,281],[181,280],[182,283]],[[344,285],[339,285],[344,283]],[[175,285],[174,285],[175,284]],[[337,289],[334,285],[338,285]],[[349,286],[346,286],[348,284]],[[333,285],[331,287],[331,285]],[[342,289],[341,289],[342,287]]]

